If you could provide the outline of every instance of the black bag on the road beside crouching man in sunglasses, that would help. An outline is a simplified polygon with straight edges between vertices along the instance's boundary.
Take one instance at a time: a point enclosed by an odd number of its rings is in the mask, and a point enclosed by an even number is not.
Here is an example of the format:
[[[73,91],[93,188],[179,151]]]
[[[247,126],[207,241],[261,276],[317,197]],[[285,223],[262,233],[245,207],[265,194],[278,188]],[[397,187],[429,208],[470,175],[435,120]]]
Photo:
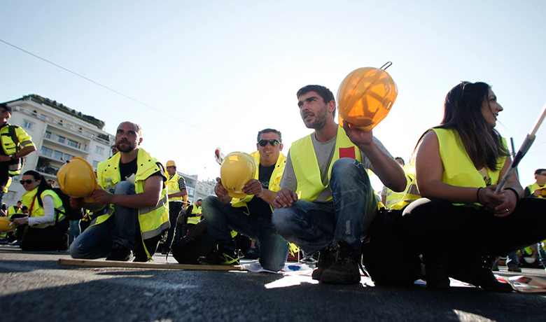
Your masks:
[[[172,255],[181,264],[197,264],[197,258],[207,256],[213,250],[207,223],[200,221],[194,230],[172,246]]]

